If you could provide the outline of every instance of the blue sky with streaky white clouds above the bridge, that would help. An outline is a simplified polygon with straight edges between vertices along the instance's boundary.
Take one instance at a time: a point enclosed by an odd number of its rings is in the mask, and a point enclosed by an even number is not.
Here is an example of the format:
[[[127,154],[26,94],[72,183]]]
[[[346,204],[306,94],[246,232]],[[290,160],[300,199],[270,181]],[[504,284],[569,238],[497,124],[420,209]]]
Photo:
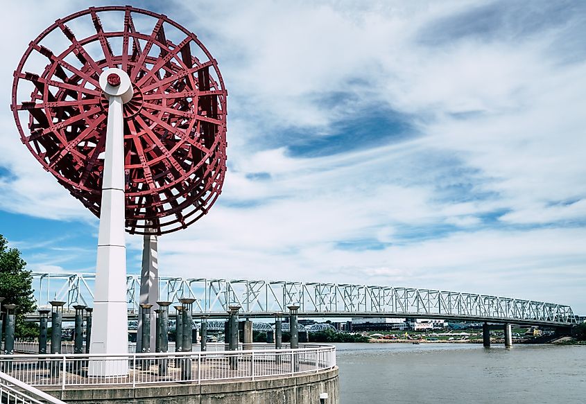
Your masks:
[[[480,292],[586,313],[586,3],[165,1],[218,60],[214,209],[162,274]],[[32,270],[91,272],[97,220],[8,109],[28,42],[84,1],[5,5],[0,234]],[[141,239],[128,237],[138,272]]]

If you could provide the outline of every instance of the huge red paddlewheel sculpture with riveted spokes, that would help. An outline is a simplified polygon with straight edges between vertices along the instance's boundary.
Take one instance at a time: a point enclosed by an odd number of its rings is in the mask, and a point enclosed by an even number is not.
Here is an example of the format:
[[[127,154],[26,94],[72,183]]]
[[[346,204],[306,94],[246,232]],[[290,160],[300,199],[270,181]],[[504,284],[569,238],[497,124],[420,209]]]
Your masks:
[[[21,140],[99,216],[108,100],[98,78],[111,67],[126,71],[134,88],[123,105],[126,230],[184,229],[221,193],[227,91],[205,46],[166,16],[89,8],[44,30],[14,73]]]

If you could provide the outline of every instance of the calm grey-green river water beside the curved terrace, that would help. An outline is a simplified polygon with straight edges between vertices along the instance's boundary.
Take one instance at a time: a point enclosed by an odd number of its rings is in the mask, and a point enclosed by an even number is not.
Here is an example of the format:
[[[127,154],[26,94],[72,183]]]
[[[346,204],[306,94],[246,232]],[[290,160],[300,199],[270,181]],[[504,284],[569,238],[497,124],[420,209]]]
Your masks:
[[[586,403],[586,346],[336,346],[341,404]]]

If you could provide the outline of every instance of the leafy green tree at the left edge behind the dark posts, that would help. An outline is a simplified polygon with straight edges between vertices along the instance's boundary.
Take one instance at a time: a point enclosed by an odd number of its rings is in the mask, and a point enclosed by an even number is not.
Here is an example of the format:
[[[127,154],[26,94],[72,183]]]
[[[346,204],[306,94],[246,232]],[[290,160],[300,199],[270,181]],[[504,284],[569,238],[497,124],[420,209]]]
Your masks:
[[[33,276],[26,270],[26,262],[17,248],[8,248],[8,240],[0,234],[0,297],[6,297],[2,304],[17,304],[15,335],[35,336],[35,326],[24,322],[25,313],[37,307],[33,299]]]

